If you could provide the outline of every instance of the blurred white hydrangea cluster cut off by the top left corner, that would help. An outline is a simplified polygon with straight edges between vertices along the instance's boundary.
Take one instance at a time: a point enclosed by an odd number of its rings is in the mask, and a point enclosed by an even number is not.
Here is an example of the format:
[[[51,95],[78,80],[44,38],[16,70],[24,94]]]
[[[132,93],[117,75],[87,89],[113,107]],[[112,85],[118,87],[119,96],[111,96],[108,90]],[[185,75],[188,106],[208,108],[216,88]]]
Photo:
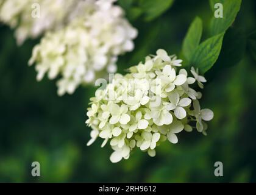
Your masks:
[[[15,37],[20,45],[26,38],[36,38],[46,30],[62,27],[76,4],[77,1],[73,0],[4,0],[0,21],[15,28]],[[32,13],[37,5],[38,16],[35,17]]]

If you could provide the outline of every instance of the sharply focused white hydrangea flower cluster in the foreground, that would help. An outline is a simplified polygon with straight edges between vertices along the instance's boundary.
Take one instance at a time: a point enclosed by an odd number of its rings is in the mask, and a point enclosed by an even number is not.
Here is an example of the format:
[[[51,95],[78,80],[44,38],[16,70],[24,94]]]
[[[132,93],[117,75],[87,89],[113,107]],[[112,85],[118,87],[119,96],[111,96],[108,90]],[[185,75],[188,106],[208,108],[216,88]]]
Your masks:
[[[194,77],[189,77],[181,63],[175,55],[158,49],[157,55],[132,66],[129,74],[115,74],[90,99],[86,124],[92,130],[87,145],[98,137],[104,139],[102,147],[110,140],[114,150],[110,160],[116,163],[129,158],[135,146],[154,157],[156,146],[166,139],[177,143],[176,133],[183,129],[194,128],[206,135],[205,121],[213,118],[213,112],[201,109],[202,94],[191,88],[196,81],[202,88],[206,80],[194,68]]]

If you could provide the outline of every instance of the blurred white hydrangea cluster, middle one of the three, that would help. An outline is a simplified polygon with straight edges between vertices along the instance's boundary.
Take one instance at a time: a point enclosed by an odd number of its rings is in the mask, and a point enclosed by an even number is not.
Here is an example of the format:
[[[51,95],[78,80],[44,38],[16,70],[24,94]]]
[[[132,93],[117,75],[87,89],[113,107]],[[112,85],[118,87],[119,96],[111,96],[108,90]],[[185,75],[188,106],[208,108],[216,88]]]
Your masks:
[[[80,84],[115,73],[118,55],[133,50],[137,30],[115,0],[85,1],[79,16],[63,29],[49,32],[35,46],[29,64],[36,63],[37,80],[48,72],[57,81],[58,94],[72,94]]]

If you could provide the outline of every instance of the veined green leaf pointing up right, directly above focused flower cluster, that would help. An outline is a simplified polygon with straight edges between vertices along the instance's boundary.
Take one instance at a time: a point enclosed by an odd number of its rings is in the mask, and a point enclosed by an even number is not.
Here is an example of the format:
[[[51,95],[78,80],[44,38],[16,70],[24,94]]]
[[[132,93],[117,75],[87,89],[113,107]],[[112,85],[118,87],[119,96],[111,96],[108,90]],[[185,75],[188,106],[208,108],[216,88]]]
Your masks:
[[[202,73],[212,68],[221,51],[223,35],[224,33],[215,35],[199,44],[192,56],[191,65],[199,68]]]

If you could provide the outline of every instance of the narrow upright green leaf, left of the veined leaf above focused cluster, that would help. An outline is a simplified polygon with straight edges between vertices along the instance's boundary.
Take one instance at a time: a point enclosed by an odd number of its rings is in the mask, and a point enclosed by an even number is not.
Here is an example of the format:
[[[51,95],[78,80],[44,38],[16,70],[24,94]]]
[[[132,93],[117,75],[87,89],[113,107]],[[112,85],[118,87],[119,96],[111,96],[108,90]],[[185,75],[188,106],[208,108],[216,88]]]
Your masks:
[[[193,22],[190,24],[188,32],[183,40],[182,53],[183,56],[188,60],[191,59],[194,49],[200,43],[202,36],[202,19],[199,17],[194,18]]]

